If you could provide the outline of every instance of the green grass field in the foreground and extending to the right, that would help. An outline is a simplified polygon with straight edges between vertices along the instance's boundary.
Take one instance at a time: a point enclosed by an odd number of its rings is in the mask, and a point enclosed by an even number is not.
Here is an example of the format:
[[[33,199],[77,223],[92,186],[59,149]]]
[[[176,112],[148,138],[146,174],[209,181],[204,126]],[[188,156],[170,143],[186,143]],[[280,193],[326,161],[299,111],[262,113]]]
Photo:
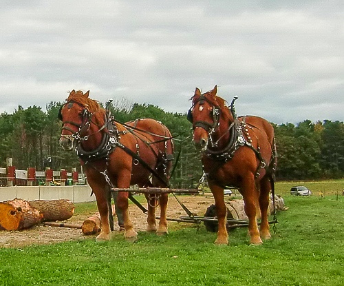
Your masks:
[[[314,195],[290,196],[292,185]],[[164,237],[140,232],[136,243],[115,234],[105,243],[3,248],[0,285],[344,285],[343,186],[278,183],[289,209],[278,213],[277,233],[264,245],[248,245],[239,228],[230,245],[217,246],[216,234],[190,225]]]

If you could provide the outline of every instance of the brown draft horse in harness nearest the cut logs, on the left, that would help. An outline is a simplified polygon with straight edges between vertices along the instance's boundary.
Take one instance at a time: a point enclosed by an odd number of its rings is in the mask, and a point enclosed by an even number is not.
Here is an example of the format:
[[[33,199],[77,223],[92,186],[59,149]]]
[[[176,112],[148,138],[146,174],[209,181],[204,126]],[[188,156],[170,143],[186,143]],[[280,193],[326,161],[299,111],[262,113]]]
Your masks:
[[[97,241],[110,236],[107,194],[105,187],[129,188],[166,187],[173,159],[171,133],[166,126],[153,119],[137,119],[118,123],[106,110],[89,99],[89,91],[70,92],[58,118],[63,121],[60,145],[75,150],[85,166],[87,181],[96,195],[101,218],[101,232]],[[152,176],[152,173],[155,174]],[[119,192],[117,206],[121,210],[125,238],[135,239],[137,232],[129,218],[128,192]],[[162,194],[160,222],[155,226],[155,197],[148,202],[147,231],[167,234],[166,205],[168,194]]]

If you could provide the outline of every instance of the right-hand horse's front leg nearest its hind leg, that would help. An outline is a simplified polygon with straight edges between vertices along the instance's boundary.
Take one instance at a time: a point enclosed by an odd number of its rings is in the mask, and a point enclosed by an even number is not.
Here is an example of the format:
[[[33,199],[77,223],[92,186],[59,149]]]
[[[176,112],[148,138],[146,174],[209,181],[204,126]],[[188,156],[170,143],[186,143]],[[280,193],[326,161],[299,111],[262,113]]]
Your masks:
[[[244,198],[244,210],[248,216],[248,234],[250,235],[250,244],[259,245],[263,243],[260,238],[257,212],[258,212],[258,191],[255,186],[254,174],[244,177],[240,187],[240,192]]]

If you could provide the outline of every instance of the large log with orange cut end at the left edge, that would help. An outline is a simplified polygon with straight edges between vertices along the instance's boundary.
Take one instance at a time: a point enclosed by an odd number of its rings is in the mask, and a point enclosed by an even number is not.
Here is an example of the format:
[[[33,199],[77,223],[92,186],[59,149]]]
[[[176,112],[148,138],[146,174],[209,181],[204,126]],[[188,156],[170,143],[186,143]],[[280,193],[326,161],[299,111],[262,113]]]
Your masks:
[[[15,198],[0,203],[0,229],[20,230],[41,222],[43,215],[28,201]]]

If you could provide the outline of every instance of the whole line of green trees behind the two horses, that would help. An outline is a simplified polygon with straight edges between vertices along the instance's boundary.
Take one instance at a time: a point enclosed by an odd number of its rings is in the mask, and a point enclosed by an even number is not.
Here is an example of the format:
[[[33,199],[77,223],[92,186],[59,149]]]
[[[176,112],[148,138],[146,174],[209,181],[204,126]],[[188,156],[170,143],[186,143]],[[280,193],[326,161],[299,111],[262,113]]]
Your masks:
[[[0,115],[0,167],[6,158],[13,158],[19,170],[61,168],[82,172],[74,152],[65,152],[58,145],[62,124],[57,119],[60,102],[50,102],[46,111],[33,105],[12,114]],[[151,104],[117,101],[111,114],[120,122],[153,118],[166,125],[173,136],[178,163],[172,176],[173,187],[195,186],[202,176],[200,154],[192,145],[191,123],[186,114],[164,112]],[[342,178],[344,174],[344,123],[340,121],[305,120],[296,125],[274,124],[278,167],[277,180],[316,180]]]

